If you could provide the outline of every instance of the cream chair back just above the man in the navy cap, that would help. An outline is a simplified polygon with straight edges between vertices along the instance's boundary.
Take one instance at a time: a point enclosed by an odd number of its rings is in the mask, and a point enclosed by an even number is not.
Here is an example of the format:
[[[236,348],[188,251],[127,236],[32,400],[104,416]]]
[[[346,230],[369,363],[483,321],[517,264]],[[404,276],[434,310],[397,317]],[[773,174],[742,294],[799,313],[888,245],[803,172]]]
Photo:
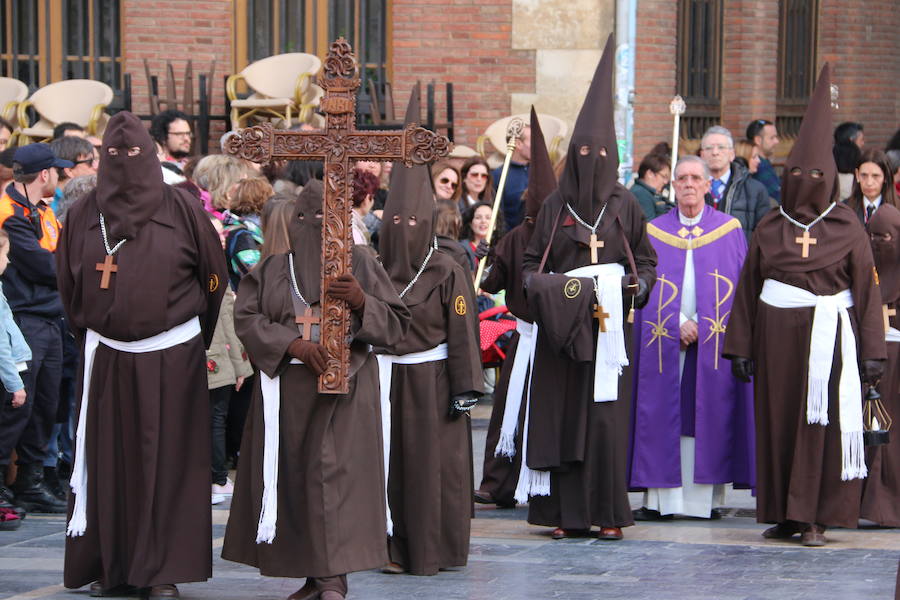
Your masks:
[[[31,95],[34,110],[53,124],[72,122],[87,127],[94,107],[112,102],[112,88],[92,79],[67,79],[45,85]]]

